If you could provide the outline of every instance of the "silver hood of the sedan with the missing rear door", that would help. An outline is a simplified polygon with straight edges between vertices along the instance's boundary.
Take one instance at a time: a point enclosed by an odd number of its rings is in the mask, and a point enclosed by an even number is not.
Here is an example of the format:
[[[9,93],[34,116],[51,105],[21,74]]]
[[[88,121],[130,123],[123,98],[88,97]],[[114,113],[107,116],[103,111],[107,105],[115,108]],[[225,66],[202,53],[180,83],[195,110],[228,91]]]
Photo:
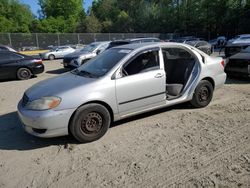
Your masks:
[[[26,95],[30,100],[39,99],[45,96],[60,96],[60,94],[71,89],[81,87],[88,83],[94,82],[96,79],[78,76],[70,72],[63,75],[50,78],[26,90]]]

